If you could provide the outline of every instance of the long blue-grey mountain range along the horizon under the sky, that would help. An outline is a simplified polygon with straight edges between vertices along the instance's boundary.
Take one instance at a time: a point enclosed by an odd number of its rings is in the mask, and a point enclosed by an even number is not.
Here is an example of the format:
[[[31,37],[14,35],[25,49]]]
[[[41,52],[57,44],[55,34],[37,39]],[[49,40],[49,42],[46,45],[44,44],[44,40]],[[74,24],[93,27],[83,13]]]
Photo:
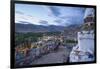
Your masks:
[[[71,30],[71,29],[79,29],[79,25],[70,25],[68,27],[64,26],[55,26],[55,25],[49,25],[49,26],[43,26],[43,25],[34,25],[34,24],[21,24],[21,23],[15,23],[15,32],[61,32],[64,29]]]

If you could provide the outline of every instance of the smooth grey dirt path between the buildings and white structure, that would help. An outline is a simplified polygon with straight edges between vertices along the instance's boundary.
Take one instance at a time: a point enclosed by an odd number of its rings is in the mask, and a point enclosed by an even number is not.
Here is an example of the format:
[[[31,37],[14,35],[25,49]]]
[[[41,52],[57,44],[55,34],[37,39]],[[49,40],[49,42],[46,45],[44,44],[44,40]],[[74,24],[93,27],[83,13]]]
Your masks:
[[[69,54],[69,49],[61,47],[55,52],[43,55],[41,58],[32,62],[34,64],[50,64],[50,63],[63,63],[64,59],[67,58]],[[66,55],[66,57],[64,56]]]

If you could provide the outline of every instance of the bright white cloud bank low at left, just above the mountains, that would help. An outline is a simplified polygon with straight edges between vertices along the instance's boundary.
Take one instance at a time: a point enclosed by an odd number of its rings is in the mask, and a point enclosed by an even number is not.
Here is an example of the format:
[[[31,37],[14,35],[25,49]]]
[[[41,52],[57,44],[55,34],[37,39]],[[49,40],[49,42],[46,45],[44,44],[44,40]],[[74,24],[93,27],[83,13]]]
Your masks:
[[[15,13],[15,23],[22,23],[22,24],[35,24],[35,25],[48,25],[48,21],[41,20],[40,18],[34,17],[29,14],[16,12]]]

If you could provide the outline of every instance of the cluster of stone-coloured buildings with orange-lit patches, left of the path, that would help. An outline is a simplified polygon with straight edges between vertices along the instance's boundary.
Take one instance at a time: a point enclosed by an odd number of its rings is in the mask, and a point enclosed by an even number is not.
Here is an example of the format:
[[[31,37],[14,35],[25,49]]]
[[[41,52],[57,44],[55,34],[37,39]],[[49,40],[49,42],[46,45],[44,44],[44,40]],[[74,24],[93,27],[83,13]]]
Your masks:
[[[56,36],[43,36],[37,42],[27,42],[15,48],[16,66],[31,65],[31,63],[43,56],[58,49],[60,38]]]

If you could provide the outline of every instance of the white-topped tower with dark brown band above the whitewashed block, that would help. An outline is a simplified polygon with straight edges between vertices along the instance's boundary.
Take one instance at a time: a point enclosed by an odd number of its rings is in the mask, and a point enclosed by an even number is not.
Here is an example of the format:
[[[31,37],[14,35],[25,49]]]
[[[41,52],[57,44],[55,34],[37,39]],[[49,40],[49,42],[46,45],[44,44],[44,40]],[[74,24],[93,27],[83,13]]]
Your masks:
[[[88,8],[86,9],[85,16],[84,16],[83,30],[93,30],[94,26],[95,26],[94,9]]]

